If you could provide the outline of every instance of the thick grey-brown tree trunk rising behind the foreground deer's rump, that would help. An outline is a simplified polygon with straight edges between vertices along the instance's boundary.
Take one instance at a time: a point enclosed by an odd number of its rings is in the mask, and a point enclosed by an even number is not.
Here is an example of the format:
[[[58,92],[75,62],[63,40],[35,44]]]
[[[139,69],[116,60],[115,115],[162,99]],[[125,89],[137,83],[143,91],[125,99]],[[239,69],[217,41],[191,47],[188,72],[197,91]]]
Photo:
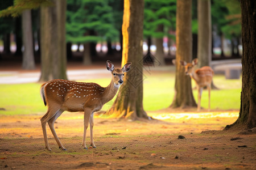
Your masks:
[[[67,79],[65,42],[66,1],[54,0],[55,6],[41,7],[41,77],[39,81]]]

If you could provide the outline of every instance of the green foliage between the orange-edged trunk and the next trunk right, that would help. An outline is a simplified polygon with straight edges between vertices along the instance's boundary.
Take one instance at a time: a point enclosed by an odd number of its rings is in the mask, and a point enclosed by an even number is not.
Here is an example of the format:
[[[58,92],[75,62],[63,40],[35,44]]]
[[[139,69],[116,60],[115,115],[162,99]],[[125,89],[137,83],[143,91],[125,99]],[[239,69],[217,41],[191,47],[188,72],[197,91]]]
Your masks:
[[[159,30],[159,26],[162,26],[163,30]],[[175,27],[175,0],[145,0],[143,28],[144,37],[171,37],[168,31],[170,31],[170,29],[175,30]]]

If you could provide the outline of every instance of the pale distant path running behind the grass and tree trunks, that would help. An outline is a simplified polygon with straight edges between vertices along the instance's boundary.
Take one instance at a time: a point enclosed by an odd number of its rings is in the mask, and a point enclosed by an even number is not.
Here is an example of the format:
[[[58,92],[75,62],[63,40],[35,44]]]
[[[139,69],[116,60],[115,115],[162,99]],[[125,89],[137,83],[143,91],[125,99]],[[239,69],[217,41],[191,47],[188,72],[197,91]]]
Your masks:
[[[115,67],[120,67],[120,63],[115,63]],[[36,83],[40,78],[40,66],[35,70],[22,70],[21,65],[1,66],[0,84]],[[151,71],[170,72],[174,71],[174,66],[148,67],[144,66],[145,73]],[[109,71],[106,70],[105,62],[94,63],[84,66],[81,63],[68,63],[67,75],[69,80],[88,80],[98,78],[110,78]]]

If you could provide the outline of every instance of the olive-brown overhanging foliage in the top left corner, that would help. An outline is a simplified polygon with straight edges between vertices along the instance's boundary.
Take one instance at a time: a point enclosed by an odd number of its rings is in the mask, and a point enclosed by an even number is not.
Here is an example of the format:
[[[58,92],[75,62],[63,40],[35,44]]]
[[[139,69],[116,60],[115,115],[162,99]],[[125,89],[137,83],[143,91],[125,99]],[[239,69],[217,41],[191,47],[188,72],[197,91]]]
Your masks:
[[[17,17],[24,10],[39,8],[40,6],[52,6],[51,0],[14,0],[14,6],[10,6],[0,11],[0,17],[13,16]]]

